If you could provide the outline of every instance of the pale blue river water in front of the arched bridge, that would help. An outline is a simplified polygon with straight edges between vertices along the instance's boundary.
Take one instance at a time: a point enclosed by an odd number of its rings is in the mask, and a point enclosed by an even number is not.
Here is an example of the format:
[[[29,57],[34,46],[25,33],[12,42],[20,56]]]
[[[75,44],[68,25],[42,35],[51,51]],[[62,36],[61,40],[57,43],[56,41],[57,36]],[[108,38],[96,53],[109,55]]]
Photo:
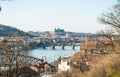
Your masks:
[[[64,50],[61,46],[56,46],[55,49],[52,49],[52,47],[46,47],[46,49],[33,49],[29,52],[29,55],[36,58],[44,59],[48,63],[51,63],[54,60],[57,60],[60,56],[69,57],[78,51],[80,51],[80,46],[76,46],[74,50],[71,46],[65,46]]]

